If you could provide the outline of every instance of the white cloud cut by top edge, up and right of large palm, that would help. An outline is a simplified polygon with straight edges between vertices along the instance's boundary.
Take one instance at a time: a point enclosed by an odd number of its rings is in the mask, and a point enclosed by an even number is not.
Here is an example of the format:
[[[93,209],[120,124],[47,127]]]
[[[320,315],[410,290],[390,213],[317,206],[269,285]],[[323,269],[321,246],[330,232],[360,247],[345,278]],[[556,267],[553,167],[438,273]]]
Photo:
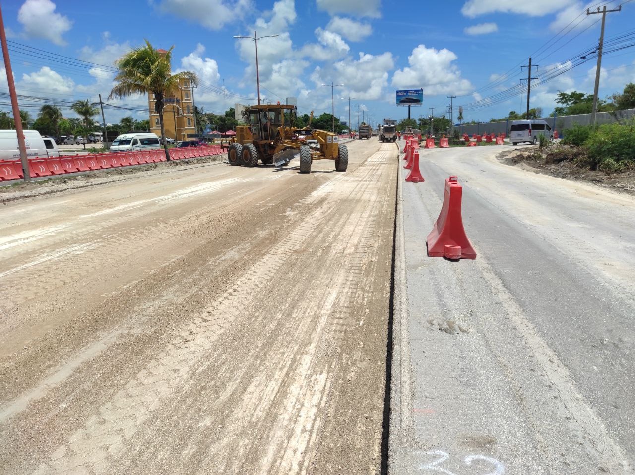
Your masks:
[[[154,1],[150,0],[150,4]],[[163,13],[199,23],[210,30],[220,30],[254,8],[251,0],[162,0],[157,6]]]

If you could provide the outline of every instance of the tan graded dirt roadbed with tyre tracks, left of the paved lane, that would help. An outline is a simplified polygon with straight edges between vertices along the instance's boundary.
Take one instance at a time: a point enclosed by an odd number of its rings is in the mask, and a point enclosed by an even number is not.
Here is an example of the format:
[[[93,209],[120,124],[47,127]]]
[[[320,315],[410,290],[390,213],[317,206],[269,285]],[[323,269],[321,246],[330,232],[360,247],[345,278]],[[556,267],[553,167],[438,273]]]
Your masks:
[[[0,206],[0,472],[373,474],[396,147]]]

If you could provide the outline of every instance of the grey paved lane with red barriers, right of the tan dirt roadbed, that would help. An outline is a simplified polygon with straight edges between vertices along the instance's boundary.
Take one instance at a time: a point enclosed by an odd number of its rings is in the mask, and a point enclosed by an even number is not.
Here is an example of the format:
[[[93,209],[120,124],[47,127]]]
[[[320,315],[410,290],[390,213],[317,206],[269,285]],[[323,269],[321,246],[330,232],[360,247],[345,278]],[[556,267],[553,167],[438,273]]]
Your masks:
[[[422,151],[396,229],[392,475],[632,474],[635,198]],[[426,257],[444,180],[476,260]]]

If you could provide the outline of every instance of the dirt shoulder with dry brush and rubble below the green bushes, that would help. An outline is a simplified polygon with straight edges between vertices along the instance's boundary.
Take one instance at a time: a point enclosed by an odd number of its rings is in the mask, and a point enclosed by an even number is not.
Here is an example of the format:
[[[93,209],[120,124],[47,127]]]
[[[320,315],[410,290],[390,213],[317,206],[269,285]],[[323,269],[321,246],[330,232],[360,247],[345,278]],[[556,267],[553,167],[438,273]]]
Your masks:
[[[572,149],[566,145],[552,144],[546,149],[539,149],[538,145],[518,147],[501,152],[496,157],[502,163],[519,166],[523,170],[566,180],[589,182],[635,195],[635,170],[620,172],[589,170],[577,163]]]

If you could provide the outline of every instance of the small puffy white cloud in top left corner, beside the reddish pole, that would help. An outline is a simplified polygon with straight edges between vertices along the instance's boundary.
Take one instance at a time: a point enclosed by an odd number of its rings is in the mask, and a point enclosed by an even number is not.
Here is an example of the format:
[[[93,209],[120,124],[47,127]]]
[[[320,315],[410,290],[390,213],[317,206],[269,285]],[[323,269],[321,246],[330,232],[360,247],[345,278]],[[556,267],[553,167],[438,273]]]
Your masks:
[[[59,46],[66,44],[62,35],[73,24],[68,17],[55,13],[51,0],[25,1],[18,10],[18,22],[22,23],[22,36],[48,39]]]

